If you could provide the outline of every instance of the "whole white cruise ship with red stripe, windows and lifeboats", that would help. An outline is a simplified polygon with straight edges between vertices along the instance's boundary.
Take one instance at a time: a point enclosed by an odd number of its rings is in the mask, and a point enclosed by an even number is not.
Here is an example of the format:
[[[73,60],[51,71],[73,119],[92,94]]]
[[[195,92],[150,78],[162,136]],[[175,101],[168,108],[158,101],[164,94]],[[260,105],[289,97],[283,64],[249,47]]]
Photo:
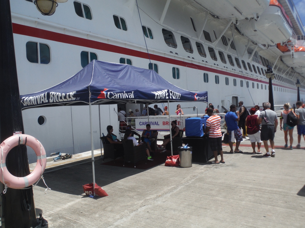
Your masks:
[[[207,91],[220,111],[239,101],[248,107],[267,101],[268,66],[275,74],[274,105],[296,102],[297,79],[305,99],[305,32],[292,0],[68,0],[52,16],[31,0],[10,4],[21,95],[59,84],[97,59],[155,70],[180,88]],[[170,114],[176,105],[170,104]],[[194,105],[198,113],[206,108]],[[92,106],[95,149],[101,147],[99,112],[102,132],[112,125],[118,134],[117,108]],[[47,154],[91,150],[88,106],[26,109],[22,115],[25,133]],[[28,157],[36,161],[30,148]]]

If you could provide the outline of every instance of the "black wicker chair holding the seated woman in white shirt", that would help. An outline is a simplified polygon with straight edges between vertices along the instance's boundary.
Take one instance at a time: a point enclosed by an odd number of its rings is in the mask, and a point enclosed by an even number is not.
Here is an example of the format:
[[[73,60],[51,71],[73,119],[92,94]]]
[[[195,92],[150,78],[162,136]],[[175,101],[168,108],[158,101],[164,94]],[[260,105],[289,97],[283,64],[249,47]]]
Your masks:
[[[124,165],[125,162],[133,162],[134,164],[141,160],[146,160],[146,146],[142,144],[134,147],[133,141],[128,139],[126,143],[123,142],[124,147]]]

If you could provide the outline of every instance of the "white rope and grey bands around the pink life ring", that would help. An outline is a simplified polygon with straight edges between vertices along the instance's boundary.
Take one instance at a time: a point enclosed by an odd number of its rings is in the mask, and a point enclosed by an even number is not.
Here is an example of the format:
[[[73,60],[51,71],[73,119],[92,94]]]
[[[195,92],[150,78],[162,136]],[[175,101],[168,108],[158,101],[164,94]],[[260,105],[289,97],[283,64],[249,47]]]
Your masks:
[[[23,144],[23,138],[21,137],[21,138],[19,138],[19,140],[21,141],[21,144]],[[45,186],[47,187],[47,188],[45,189],[45,193],[46,193],[47,189],[51,190],[51,188],[49,188],[48,185],[45,183],[45,179],[44,179],[44,177],[43,177],[43,175],[42,175],[42,174],[43,174],[43,171],[44,171],[42,159],[45,159],[45,158],[46,158],[46,154],[42,155],[42,146],[41,146],[41,143],[40,143],[38,140],[36,140],[36,141],[37,141],[37,142],[39,143],[39,145],[40,145],[40,156],[37,156],[37,160],[40,160],[40,162],[41,162],[41,174],[40,174],[40,177],[39,177],[38,181],[37,181],[34,185],[32,185],[32,187],[36,186],[36,185],[38,184],[38,182],[40,181],[40,179],[42,179],[43,182],[44,182],[44,184],[45,184]],[[2,161],[3,161],[3,148],[2,148],[2,145],[0,145],[0,148],[1,148],[2,183],[4,184],[4,191],[3,191],[3,194],[5,194],[5,193],[6,193],[6,189],[8,188],[8,186],[7,186],[7,183],[5,183],[5,181],[4,181],[4,174],[3,174],[4,172],[3,172],[3,168],[6,167],[6,164],[5,164],[5,163],[2,163]],[[23,180],[24,180],[24,182],[25,182],[26,188],[19,188],[19,189],[28,189],[28,188],[32,188],[32,187],[27,187],[28,184],[29,184],[29,180],[28,180],[27,177],[23,177]]]

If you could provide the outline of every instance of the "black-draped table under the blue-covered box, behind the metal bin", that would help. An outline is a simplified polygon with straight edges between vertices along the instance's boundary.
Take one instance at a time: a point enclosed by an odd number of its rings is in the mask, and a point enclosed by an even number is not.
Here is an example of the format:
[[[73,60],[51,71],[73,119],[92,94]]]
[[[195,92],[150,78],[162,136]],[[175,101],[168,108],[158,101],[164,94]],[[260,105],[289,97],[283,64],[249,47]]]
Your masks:
[[[209,145],[209,139],[204,137],[183,137],[182,142],[192,149],[193,162],[207,162],[214,157],[213,151]]]

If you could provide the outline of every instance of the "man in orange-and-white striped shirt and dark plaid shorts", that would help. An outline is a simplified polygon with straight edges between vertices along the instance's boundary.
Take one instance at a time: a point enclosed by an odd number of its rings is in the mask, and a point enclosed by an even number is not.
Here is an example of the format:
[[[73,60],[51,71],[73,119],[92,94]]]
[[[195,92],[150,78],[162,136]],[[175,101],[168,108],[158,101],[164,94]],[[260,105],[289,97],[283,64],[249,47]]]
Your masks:
[[[212,108],[208,108],[206,110],[206,114],[208,114],[208,116],[210,117],[209,119],[206,120],[206,129],[204,133],[205,134],[209,133],[209,143],[215,157],[215,161],[212,161],[212,164],[225,163],[224,154],[222,152],[222,143],[221,143],[221,139],[222,139],[222,134],[220,130],[221,118],[220,116],[215,115],[213,113]],[[217,151],[219,151],[221,156],[220,161],[218,161],[217,159],[217,155],[218,155]]]

